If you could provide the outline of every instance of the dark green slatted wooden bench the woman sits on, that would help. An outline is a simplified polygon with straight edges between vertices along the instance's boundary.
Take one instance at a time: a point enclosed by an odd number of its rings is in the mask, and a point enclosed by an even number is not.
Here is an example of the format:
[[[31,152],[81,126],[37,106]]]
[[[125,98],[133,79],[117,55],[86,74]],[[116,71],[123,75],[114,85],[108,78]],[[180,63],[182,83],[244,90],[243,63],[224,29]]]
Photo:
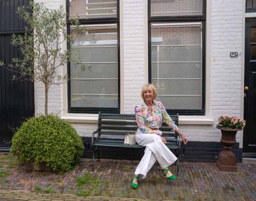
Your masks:
[[[170,115],[170,114],[169,114]],[[175,124],[179,125],[179,114],[171,114],[171,119]],[[132,114],[108,114],[99,112],[98,127],[93,132],[91,146],[93,149],[93,166],[94,159],[98,152],[98,160],[100,160],[100,147],[118,147],[118,148],[144,148],[136,144],[124,144],[126,133],[133,133],[137,130],[137,122]],[[174,154],[178,158],[175,164],[177,165],[177,176],[179,175],[179,154],[181,151],[181,136],[172,132],[165,122],[162,122],[160,130],[163,132],[162,137],[166,139],[166,146],[170,150],[174,150]]]

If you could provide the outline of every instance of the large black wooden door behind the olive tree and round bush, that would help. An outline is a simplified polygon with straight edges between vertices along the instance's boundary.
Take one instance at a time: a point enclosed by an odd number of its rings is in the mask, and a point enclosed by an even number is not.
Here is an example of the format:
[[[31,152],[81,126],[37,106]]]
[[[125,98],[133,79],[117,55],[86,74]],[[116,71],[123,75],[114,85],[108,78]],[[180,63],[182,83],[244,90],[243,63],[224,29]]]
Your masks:
[[[18,47],[10,44],[12,33],[23,34],[25,23],[19,19],[17,7],[29,0],[0,0],[0,60],[8,66],[11,59],[21,57]],[[35,113],[34,83],[12,80],[14,72],[0,67],[0,151],[8,151],[12,129]],[[16,73],[16,75],[18,75]]]

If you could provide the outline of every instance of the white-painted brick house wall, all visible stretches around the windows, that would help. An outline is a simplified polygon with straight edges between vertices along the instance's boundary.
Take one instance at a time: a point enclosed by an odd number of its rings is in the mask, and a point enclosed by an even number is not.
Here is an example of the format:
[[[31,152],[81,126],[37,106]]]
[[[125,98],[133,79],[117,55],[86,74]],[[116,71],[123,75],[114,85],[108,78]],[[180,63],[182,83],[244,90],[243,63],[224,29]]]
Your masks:
[[[44,1],[51,8],[58,8],[60,0]],[[133,113],[135,105],[141,103],[141,86],[147,80],[147,59],[148,32],[146,0],[120,1],[121,35],[120,43],[123,55],[123,108],[124,113]],[[154,1],[157,3],[157,1]],[[179,1],[184,2],[184,1]],[[193,2],[193,1],[192,1]],[[198,1],[197,1],[198,2]],[[210,52],[206,66],[210,77],[207,83],[210,84],[210,118],[214,119],[214,125],[180,125],[180,129],[187,136],[189,141],[219,142],[220,130],[216,129],[218,117],[221,115],[240,116],[241,99],[241,60],[230,58],[230,52],[242,51],[242,1],[241,0],[213,0],[211,3],[210,17],[206,19],[206,27],[210,27],[210,35],[207,35],[206,49]],[[121,62],[122,63],[122,62]],[[60,69],[61,71],[61,69]],[[147,70],[146,70],[147,71]],[[37,83],[37,111],[44,109],[44,86]],[[63,86],[57,85],[50,88],[49,110],[63,110]],[[122,103],[121,103],[122,104]],[[96,124],[74,124],[79,135],[90,137]],[[236,136],[239,142],[239,132]]]

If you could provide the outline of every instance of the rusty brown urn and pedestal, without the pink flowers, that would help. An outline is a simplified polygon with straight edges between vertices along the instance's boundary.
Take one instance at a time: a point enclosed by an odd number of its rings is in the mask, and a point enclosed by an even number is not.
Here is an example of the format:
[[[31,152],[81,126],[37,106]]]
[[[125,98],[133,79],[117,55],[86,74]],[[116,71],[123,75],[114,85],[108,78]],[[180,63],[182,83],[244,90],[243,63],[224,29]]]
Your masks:
[[[243,129],[217,129],[221,130],[220,142],[224,144],[225,149],[219,153],[216,166],[220,171],[237,172],[236,156],[231,151],[231,146],[236,144],[237,131]]]

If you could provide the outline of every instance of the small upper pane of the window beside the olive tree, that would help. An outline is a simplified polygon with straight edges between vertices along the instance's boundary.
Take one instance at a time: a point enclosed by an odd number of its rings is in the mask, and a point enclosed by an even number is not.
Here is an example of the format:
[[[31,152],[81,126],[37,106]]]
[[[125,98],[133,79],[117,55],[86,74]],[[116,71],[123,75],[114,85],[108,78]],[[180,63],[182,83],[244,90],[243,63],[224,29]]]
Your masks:
[[[117,0],[70,0],[69,17],[80,18],[117,17]]]

